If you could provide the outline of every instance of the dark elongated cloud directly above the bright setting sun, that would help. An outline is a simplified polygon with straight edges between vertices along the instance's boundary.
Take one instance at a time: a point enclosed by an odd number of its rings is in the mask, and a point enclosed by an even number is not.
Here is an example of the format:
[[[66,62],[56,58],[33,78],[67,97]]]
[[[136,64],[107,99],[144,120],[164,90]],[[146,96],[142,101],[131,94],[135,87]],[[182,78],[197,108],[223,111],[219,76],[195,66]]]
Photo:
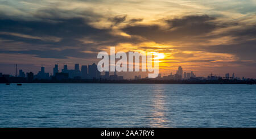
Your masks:
[[[142,36],[156,43],[184,41],[212,32],[217,28],[217,24],[214,24],[213,20],[214,18],[207,15],[185,16],[180,19],[165,20],[170,26],[168,30],[159,25],[127,26],[122,30],[130,35]]]

